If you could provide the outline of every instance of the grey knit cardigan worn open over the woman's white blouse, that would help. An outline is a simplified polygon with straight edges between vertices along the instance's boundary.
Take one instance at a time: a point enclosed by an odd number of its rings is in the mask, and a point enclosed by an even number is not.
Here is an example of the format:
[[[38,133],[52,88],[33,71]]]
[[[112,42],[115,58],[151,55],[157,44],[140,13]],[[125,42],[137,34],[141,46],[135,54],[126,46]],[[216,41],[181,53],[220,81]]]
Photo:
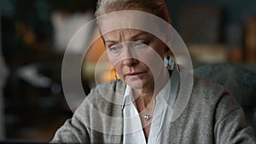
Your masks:
[[[116,103],[123,100],[125,84],[118,81],[116,93],[110,90],[112,86],[108,83],[92,89],[51,142],[122,143],[122,106]],[[170,125],[164,128],[169,130],[166,144],[256,143],[236,100],[223,86],[198,78],[194,80],[189,103]]]

